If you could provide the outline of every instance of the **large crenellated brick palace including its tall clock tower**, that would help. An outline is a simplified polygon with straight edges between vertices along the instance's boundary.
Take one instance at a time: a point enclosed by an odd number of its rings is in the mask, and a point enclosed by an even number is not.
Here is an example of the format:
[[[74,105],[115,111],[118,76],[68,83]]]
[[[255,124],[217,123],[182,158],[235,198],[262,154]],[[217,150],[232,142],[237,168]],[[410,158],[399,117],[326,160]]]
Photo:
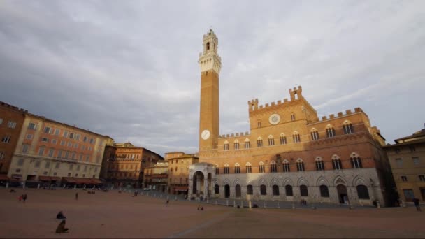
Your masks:
[[[210,30],[199,57],[199,164],[190,166],[189,196],[389,205],[385,139],[361,108],[319,119],[300,86],[289,99],[247,101],[250,131],[220,135],[217,46]]]

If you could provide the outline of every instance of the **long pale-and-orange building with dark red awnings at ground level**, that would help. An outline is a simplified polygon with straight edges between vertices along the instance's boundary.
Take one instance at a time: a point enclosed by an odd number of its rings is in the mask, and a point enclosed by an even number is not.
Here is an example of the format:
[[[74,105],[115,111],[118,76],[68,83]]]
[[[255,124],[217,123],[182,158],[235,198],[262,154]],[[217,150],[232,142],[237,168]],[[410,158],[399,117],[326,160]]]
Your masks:
[[[24,114],[8,177],[25,183],[100,184],[108,136]]]

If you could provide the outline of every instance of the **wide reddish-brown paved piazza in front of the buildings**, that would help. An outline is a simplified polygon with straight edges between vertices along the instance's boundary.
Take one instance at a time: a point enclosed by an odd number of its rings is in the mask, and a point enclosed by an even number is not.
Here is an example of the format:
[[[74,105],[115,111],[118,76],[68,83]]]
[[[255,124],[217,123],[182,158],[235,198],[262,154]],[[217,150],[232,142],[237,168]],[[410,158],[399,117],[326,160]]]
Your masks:
[[[236,209],[117,191],[0,189],[0,238],[425,238],[415,208]],[[75,192],[79,192],[75,201]],[[59,210],[69,233],[57,234]]]

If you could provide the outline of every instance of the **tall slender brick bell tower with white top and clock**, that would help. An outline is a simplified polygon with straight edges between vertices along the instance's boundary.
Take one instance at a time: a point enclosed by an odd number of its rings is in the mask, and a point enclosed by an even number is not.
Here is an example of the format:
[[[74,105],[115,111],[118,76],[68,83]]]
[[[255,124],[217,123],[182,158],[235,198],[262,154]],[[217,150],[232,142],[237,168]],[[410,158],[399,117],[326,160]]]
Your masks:
[[[217,54],[218,39],[214,31],[203,35],[201,67],[201,109],[199,115],[199,151],[217,148],[219,136],[219,73],[222,59]]]

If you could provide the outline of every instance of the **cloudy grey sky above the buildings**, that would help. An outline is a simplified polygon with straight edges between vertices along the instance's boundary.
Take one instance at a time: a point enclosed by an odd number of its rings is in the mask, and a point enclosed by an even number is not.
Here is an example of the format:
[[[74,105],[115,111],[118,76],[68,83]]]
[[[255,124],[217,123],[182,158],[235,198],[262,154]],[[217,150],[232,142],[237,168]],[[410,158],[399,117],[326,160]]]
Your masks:
[[[0,1],[0,101],[160,155],[198,150],[202,36],[219,39],[220,134],[301,85],[387,143],[424,128],[425,1]]]

